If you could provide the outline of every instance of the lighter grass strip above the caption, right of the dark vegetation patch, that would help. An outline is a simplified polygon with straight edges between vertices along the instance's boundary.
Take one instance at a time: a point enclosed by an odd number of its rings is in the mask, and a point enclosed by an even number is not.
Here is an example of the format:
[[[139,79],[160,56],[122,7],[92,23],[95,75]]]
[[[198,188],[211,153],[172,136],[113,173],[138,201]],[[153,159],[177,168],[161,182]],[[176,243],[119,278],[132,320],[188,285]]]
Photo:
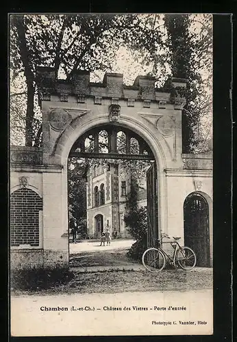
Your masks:
[[[63,293],[119,293],[126,291],[190,291],[212,289],[212,269],[164,269],[158,274],[148,271],[112,269],[101,272],[68,271],[71,277],[61,282],[48,283],[47,288],[36,286],[25,291],[12,287],[13,295]]]

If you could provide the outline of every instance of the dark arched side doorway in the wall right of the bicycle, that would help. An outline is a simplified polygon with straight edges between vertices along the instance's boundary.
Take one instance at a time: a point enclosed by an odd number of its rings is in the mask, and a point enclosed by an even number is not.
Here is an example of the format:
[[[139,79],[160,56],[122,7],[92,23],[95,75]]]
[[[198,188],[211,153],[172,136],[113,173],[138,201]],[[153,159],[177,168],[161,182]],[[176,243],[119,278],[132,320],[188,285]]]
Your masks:
[[[184,201],[184,244],[195,251],[197,266],[210,267],[209,206],[196,192]]]

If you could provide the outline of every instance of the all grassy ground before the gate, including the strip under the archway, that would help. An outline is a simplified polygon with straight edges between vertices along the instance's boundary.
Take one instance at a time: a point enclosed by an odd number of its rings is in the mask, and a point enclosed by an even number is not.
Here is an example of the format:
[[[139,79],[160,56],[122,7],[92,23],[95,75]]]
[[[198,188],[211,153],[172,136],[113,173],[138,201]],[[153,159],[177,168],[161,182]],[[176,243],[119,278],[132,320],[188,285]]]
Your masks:
[[[71,269],[22,269],[11,272],[12,295],[63,293],[119,293],[126,291],[192,291],[212,289],[212,269],[196,267],[190,272],[164,269],[153,274],[147,270],[127,270],[135,265],[127,248],[71,254]],[[109,266],[99,272],[82,272],[73,267]],[[135,267],[134,267],[135,268]]]

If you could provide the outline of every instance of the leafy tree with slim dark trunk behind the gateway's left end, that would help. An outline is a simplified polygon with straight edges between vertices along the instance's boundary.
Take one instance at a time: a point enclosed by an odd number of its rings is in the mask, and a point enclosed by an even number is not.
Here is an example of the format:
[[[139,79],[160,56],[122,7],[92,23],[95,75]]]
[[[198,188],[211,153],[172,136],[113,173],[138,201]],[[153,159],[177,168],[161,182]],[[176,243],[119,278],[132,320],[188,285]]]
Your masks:
[[[10,76],[14,81],[23,74],[25,81],[18,96],[27,96],[26,109],[22,108],[25,110],[26,146],[34,144],[38,133],[34,129],[38,95],[36,66],[51,66],[55,68],[56,78],[61,76],[68,80],[78,69],[110,70],[121,37],[132,36],[138,28],[134,14],[10,16]]]

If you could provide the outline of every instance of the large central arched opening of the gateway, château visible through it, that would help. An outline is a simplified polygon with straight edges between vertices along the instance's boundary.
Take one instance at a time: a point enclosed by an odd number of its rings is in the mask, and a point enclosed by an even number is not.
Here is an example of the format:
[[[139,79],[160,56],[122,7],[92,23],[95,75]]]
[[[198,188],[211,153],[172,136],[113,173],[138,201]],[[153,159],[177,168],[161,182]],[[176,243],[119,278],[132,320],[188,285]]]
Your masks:
[[[155,244],[157,168],[147,142],[117,124],[96,127],[80,136],[68,155],[68,208],[69,218],[77,222],[77,242],[90,244],[90,249],[98,249],[103,231],[108,230],[112,239],[110,249],[116,248],[119,241],[127,254],[135,242],[134,222],[129,213],[140,215],[147,224],[147,235],[142,240],[144,249],[147,244]],[[139,226],[141,220],[137,221]],[[76,249],[69,244],[69,254],[73,255],[70,260],[75,261]],[[138,259],[140,263],[140,256]]]

